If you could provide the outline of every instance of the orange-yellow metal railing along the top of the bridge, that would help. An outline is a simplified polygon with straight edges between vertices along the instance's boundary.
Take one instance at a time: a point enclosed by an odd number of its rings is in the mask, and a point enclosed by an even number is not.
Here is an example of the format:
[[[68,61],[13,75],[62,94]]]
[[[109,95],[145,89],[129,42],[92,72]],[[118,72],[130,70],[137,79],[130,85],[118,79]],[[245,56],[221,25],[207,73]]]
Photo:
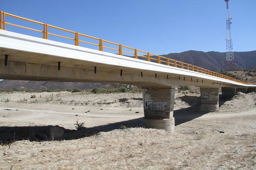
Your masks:
[[[20,19],[20,20],[25,20],[25,21],[29,21],[29,22],[32,22],[32,23],[39,24],[39,25],[42,26],[43,31],[38,30],[38,29],[28,28],[28,27],[25,27],[25,26],[20,26],[20,25],[13,24],[13,23],[8,23],[8,22],[6,22],[6,16],[15,17],[15,18]],[[49,40],[48,35],[52,35],[52,36],[56,36],[56,37],[65,38],[65,39],[68,39],[68,40],[73,40],[74,45],[77,45],[77,46],[79,46],[79,42],[83,42],[83,43],[86,43],[86,44],[98,46],[99,51],[104,51],[104,48],[108,48],[108,49],[111,49],[111,50],[114,50],[114,51],[118,51],[119,55],[123,55],[124,53],[128,54],[128,55],[131,54],[131,55],[134,56],[135,59],[140,59],[141,57],[143,57],[148,62],[157,62],[159,64],[164,64],[164,65],[169,65],[169,66],[176,67],[176,68],[182,68],[182,69],[186,69],[186,70],[190,70],[190,71],[195,71],[195,72],[199,72],[199,73],[202,73],[202,74],[208,74],[208,75],[211,75],[211,76],[220,77],[220,78],[223,78],[223,79],[229,79],[229,80],[232,80],[232,81],[235,81],[235,82],[240,82],[240,83],[243,83],[243,84],[255,85],[254,83],[243,82],[243,81],[240,81],[238,79],[234,79],[232,77],[228,77],[226,75],[219,74],[217,72],[207,70],[205,68],[201,68],[201,67],[198,67],[198,66],[195,66],[195,65],[188,64],[186,62],[177,61],[175,59],[170,59],[170,58],[163,57],[163,56],[160,56],[160,55],[157,55],[157,54],[152,54],[152,53],[149,53],[149,52],[146,52],[146,51],[142,51],[142,50],[139,50],[139,49],[136,49],[136,48],[131,48],[131,47],[128,47],[128,46],[125,46],[125,45],[115,43],[115,42],[102,40],[100,38],[92,37],[92,36],[89,36],[89,35],[86,35],[86,34],[81,34],[81,33],[75,32],[75,31],[70,31],[70,30],[67,30],[67,29],[64,29],[64,28],[59,28],[59,27],[52,26],[52,25],[49,25],[49,24],[46,24],[46,23],[41,23],[41,22],[30,20],[30,19],[27,19],[27,18],[19,17],[17,15],[9,14],[9,13],[6,13],[4,11],[0,11],[0,29],[6,30],[6,25],[15,26],[15,27],[19,27],[19,28],[24,28],[24,29],[28,29],[28,30],[31,30],[31,31],[40,32],[40,33],[43,34],[42,37],[44,39],[47,39],[47,40]],[[71,38],[71,37],[67,37],[67,36],[59,35],[59,34],[53,34],[53,33],[48,31],[48,28],[54,28],[54,29],[57,29],[57,30],[61,30],[61,31],[71,33],[71,34],[73,34],[73,37],[75,37],[75,38]],[[96,43],[93,43],[93,42],[83,41],[83,40],[80,39],[81,37],[90,38],[90,39],[99,41],[99,43],[96,44]],[[103,44],[103,42],[105,44]],[[116,48],[112,48],[112,46],[111,47],[107,46],[108,44],[111,44],[111,45],[114,45],[114,46],[116,45]],[[125,51],[124,51],[124,49],[125,49]],[[126,49],[128,49],[128,50],[126,50]],[[133,52],[131,52],[131,51],[133,51]],[[138,54],[138,52],[140,54]]]

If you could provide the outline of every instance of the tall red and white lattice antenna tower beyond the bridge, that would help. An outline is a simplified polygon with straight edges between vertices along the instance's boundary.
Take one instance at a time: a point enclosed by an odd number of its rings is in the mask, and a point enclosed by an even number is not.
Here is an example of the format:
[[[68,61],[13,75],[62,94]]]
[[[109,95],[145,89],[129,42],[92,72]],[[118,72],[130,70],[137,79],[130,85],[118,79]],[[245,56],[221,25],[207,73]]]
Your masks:
[[[231,38],[231,28],[230,28],[230,20],[232,20],[232,17],[229,17],[228,13],[228,1],[224,0],[227,4],[227,37],[226,37],[226,70],[230,71],[235,68],[235,62],[234,62],[234,53],[233,53],[233,44],[232,44],[232,38]]]

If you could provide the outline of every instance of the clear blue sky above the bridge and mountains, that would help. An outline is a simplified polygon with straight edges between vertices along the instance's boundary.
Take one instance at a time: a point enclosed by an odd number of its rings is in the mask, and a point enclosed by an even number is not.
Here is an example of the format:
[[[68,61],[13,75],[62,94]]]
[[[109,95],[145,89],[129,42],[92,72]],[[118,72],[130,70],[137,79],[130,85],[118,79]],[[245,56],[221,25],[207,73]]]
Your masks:
[[[154,54],[226,51],[224,0],[6,0],[0,7],[7,13]],[[230,0],[229,7],[234,51],[256,50],[256,0]]]

